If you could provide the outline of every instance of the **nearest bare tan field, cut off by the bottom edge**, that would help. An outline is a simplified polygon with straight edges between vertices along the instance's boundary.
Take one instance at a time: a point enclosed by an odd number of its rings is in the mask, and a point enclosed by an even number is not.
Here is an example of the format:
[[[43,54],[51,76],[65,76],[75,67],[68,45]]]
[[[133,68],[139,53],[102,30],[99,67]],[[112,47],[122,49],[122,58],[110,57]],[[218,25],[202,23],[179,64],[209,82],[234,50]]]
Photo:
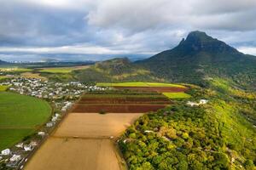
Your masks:
[[[26,170],[119,170],[118,156],[109,139],[50,137],[26,164]]]

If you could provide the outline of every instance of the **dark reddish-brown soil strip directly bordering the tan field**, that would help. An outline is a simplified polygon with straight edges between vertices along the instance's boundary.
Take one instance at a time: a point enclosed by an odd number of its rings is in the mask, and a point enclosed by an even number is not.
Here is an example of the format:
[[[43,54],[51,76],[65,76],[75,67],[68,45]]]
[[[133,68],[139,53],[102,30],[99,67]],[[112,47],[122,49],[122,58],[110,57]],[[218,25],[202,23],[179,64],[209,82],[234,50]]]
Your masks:
[[[104,111],[107,113],[146,113],[148,111],[158,111],[165,108],[167,105],[85,105],[77,104],[72,112],[76,113],[99,113]]]

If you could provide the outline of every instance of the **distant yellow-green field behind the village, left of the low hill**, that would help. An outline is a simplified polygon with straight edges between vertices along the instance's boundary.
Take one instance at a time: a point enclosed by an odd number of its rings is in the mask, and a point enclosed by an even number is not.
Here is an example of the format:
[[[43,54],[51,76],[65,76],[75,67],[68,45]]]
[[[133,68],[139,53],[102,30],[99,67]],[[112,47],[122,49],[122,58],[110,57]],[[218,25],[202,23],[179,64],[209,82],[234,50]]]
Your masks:
[[[49,67],[49,68],[39,68],[40,72],[48,73],[70,73],[71,71],[87,69],[89,65],[83,66],[71,66],[71,67]]]

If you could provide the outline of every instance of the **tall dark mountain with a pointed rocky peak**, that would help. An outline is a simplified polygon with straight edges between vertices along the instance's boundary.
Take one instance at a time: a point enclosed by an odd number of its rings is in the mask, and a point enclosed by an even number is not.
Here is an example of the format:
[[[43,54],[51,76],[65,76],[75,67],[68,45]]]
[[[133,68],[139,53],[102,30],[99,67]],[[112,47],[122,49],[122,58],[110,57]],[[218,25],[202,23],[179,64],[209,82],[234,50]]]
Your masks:
[[[135,65],[169,82],[202,84],[212,77],[224,77],[250,88],[256,84],[256,57],[242,54],[202,31],[190,32],[177,47]]]

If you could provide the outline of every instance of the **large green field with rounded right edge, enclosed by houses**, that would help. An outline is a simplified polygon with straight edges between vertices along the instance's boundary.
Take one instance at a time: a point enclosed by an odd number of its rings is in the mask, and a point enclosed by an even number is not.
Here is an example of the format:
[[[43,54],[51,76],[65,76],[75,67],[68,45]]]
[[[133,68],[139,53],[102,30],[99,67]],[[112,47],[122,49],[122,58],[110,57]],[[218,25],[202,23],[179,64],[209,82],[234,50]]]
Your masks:
[[[0,150],[35,132],[51,115],[41,99],[8,92],[0,93]]]

